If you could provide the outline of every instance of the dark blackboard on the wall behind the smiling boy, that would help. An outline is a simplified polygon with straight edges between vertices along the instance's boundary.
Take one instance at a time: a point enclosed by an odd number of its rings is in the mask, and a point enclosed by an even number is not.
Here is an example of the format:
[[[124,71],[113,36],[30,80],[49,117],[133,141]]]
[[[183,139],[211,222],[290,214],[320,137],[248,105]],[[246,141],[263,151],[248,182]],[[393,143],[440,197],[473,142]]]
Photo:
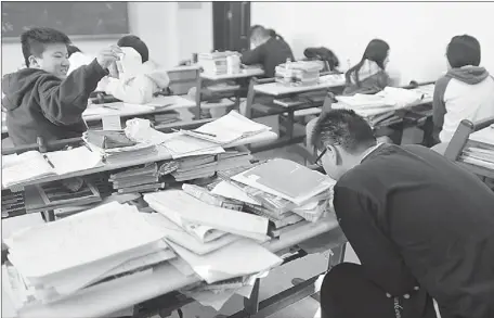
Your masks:
[[[128,34],[127,2],[2,1],[2,40],[18,40],[34,26],[52,27],[70,38]]]

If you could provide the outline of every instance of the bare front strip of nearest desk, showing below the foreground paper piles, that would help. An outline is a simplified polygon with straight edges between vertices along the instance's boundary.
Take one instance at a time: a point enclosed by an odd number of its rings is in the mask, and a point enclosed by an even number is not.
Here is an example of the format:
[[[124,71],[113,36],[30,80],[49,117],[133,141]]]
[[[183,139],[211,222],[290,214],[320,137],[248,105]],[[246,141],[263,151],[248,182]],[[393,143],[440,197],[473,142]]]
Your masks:
[[[338,228],[338,221],[335,215],[330,214],[317,222],[297,227],[292,232],[287,231],[280,240],[269,241],[264,246],[276,253],[336,228]],[[165,264],[158,266],[153,274],[143,278],[116,279],[94,287],[89,292],[80,292],[78,296],[73,296],[49,306],[37,305],[23,308],[17,313],[17,317],[66,318],[75,315],[88,318],[101,317],[198,281],[199,279],[195,276],[185,277],[171,265]],[[3,302],[10,301],[5,293],[2,293],[2,295]]]

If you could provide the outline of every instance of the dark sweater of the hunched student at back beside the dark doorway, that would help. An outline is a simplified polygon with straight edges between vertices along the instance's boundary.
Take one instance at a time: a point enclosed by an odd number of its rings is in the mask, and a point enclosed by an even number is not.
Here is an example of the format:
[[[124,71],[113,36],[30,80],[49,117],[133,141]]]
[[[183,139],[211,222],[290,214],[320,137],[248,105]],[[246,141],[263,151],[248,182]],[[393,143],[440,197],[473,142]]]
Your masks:
[[[274,77],[274,68],[286,62],[294,61],[290,47],[282,39],[270,38],[253,50],[242,54],[242,63],[245,65],[261,64],[264,68],[264,77]]]

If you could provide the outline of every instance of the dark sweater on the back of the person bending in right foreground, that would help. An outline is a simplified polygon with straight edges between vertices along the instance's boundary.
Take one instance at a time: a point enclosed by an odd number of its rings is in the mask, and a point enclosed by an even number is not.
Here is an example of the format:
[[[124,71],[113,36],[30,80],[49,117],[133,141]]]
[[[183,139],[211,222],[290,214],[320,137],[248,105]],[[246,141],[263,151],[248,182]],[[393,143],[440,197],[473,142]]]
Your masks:
[[[384,293],[419,285],[443,318],[494,317],[494,193],[478,177],[420,145],[381,145],[338,180],[334,205]]]

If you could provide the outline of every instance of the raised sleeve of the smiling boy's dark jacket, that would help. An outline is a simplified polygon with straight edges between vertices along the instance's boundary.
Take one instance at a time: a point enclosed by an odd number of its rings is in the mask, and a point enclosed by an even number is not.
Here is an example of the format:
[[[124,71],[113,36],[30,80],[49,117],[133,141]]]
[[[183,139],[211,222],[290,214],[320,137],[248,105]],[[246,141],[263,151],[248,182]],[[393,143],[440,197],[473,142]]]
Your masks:
[[[80,120],[91,92],[107,72],[94,59],[89,65],[75,69],[64,80],[52,75],[38,82],[39,104],[44,116],[55,125],[72,125]]]

